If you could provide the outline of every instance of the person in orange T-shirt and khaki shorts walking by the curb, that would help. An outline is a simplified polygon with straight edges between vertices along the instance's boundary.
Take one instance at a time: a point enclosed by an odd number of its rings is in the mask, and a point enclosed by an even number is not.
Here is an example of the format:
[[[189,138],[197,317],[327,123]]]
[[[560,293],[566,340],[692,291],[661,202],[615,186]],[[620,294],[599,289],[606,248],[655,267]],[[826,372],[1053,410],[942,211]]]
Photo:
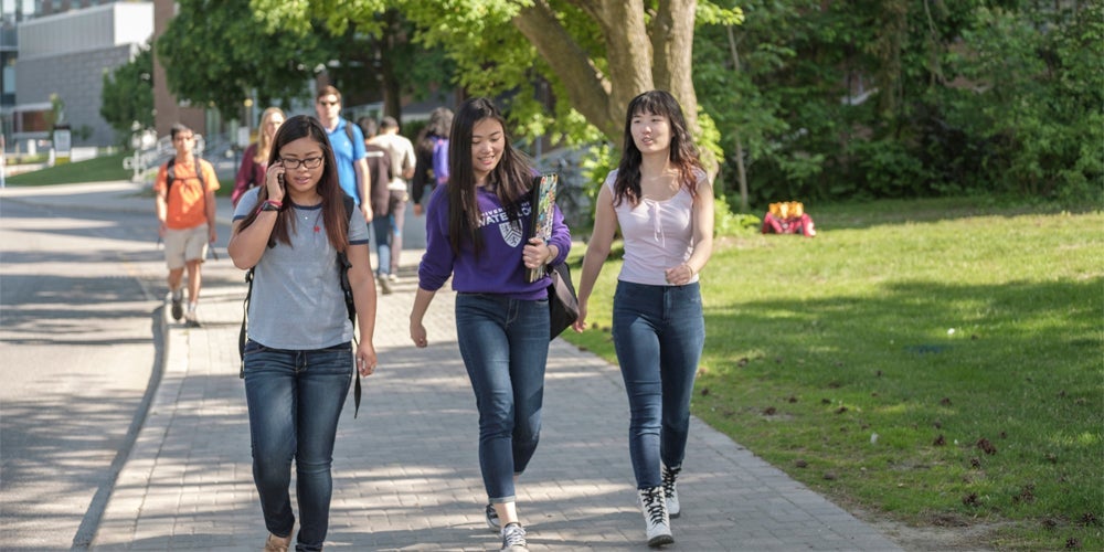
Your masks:
[[[195,307],[200,298],[200,267],[206,258],[209,243],[219,235],[215,231],[214,191],[219,178],[211,163],[195,157],[195,134],[182,124],[172,125],[170,136],[177,155],[161,166],[153,183],[157,198],[158,233],[164,240],[164,261],[169,266],[169,293],[172,300],[172,319],[185,317],[189,326],[199,326]],[[170,166],[172,178],[169,178]],[[188,314],[183,312],[181,279],[188,269]]]

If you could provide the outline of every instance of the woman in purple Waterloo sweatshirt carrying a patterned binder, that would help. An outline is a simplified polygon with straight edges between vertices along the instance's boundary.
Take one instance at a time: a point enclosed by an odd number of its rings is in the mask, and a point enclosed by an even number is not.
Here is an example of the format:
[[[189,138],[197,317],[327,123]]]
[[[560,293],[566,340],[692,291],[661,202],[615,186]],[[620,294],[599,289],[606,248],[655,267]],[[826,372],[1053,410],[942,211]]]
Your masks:
[[[562,263],[571,233],[556,209],[548,243],[528,238],[533,170],[516,151],[498,108],[465,103],[449,136],[449,181],[426,208],[426,252],[411,310],[411,339],[426,347],[422,319],[453,278],[460,355],[479,410],[479,467],[487,524],[502,550],[527,550],[514,480],[537,450],[549,350],[548,286],[526,272]]]

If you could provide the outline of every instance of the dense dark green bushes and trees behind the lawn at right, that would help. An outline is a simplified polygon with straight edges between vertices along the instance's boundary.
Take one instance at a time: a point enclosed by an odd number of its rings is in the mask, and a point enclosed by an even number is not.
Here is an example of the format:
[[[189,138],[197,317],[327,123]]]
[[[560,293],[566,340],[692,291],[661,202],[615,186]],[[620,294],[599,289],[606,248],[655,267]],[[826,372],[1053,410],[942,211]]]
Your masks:
[[[1104,204],[1100,2],[739,3],[741,26],[699,30],[694,82],[724,149],[743,147],[753,203]]]

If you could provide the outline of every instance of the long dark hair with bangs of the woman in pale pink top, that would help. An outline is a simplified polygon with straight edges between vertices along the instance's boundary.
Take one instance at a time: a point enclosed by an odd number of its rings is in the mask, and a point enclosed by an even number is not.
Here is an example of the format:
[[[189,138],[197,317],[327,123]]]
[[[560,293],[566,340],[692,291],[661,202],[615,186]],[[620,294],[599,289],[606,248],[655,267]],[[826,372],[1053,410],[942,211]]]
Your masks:
[[[698,195],[698,176],[701,170],[698,158],[698,147],[687,128],[682,107],[667,91],[649,91],[633,98],[628,103],[625,115],[625,146],[622,149],[620,164],[617,167],[617,178],[614,180],[614,205],[623,200],[636,205],[640,202],[640,161],[643,156],[633,140],[633,117],[650,113],[667,117],[671,126],[670,160],[679,171],[679,185],[686,188],[690,195]]]

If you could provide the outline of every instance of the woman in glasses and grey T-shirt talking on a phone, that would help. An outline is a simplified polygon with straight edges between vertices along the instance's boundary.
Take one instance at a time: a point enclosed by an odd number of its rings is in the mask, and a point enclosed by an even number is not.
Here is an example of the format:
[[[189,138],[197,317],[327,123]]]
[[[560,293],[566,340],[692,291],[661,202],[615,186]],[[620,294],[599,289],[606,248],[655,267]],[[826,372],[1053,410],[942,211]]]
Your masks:
[[[265,185],[242,197],[226,250],[234,266],[254,268],[245,344],[253,480],[269,535],[286,551],[299,502],[297,551],[322,550],[329,527],[333,439],[352,381],[375,370],[375,282],[368,225],[347,212],[326,130],[312,118],[287,119],[276,132]],[[360,343],[352,350],[337,254],[351,264]]]

